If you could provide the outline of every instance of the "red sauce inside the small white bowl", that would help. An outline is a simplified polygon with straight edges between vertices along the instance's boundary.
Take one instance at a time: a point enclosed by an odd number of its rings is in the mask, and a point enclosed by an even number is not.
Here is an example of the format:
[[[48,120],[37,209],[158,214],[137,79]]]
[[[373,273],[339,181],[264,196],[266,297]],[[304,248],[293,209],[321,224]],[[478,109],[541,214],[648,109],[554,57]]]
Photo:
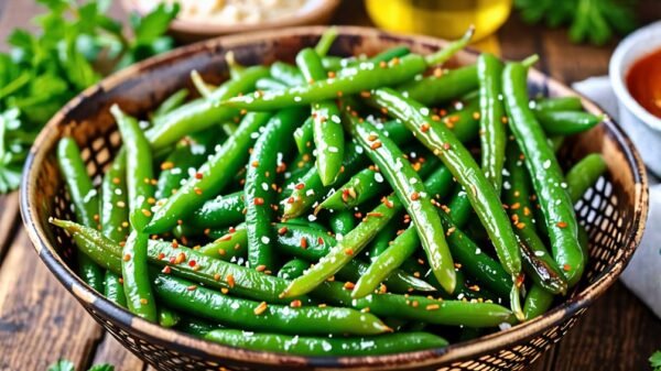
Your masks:
[[[627,88],[640,106],[661,118],[661,50],[633,63],[627,72]]]

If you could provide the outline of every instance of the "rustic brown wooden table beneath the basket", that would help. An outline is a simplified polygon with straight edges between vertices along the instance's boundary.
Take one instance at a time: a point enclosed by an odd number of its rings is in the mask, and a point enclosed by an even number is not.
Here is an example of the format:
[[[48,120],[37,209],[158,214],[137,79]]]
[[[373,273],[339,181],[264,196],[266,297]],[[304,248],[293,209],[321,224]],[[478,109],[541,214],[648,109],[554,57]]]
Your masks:
[[[642,1],[647,21],[661,18],[658,0]],[[26,26],[30,0],[0,0],[0,40]],[[121,17],[118,4],[112,13]],[[334,23],[371,25],[361,1],[345,1]],[[607,73],[616,45],[573,45],[564,30],[528,26],[512,15],[496,43],[506,58],[541,56],[538,68],[572,83]],[[83,369],[110,362],[116,370],[150,369],[106,334],[56,282],[33,251],[19,217],[18,194],[0,197],[0,371],[45,370],[58,358]],[[661,349],[661,320],[621,284],[615,284],[533,370],[648,370]]]

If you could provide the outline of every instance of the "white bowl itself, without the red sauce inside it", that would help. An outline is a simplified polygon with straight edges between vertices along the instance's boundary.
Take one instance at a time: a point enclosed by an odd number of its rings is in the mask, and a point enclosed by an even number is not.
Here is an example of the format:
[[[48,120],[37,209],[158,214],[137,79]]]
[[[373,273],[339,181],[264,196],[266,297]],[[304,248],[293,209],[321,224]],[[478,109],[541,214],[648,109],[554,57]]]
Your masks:
[[[610,57],[609,76],[618,99],[619,123],[636,143],[642,161],[661,176],[661,119],[648,112],[629,92],[625,81],[631,65],[661,48],[661,21],[627,36]]]

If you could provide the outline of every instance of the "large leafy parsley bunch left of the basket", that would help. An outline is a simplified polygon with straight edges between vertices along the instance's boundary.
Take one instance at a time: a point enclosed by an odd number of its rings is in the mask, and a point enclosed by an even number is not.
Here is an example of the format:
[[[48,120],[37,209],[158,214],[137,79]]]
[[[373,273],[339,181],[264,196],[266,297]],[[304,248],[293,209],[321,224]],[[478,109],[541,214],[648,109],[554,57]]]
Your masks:
[[[132,36],[106,15],[112,0],[37,0],[46,12],[39,31],[14,30],[0,53],[0,193],[19,187],[30,145],[69,99],[102,76],[169,51],[165,31],[178,12],[161,4],[129,17]]]

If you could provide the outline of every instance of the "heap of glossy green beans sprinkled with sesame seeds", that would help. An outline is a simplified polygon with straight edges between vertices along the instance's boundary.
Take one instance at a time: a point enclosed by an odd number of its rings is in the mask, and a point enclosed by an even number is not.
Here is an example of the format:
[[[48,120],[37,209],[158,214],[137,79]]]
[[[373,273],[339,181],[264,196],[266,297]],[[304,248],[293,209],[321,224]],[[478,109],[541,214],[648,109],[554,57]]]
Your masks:
[[[139,120],[99,188],[57,148],[80,277],[134,315],[209,341],[300,356],[445,347],[544,314],[581,280],[573,204],[602,176],[555,151],[602,118],[530,100],[529,58],[443,63],[398,46],[191,74]],[[199,95],[198,98],[195,96]],[[193,97],[193,98],[188,98]]]

